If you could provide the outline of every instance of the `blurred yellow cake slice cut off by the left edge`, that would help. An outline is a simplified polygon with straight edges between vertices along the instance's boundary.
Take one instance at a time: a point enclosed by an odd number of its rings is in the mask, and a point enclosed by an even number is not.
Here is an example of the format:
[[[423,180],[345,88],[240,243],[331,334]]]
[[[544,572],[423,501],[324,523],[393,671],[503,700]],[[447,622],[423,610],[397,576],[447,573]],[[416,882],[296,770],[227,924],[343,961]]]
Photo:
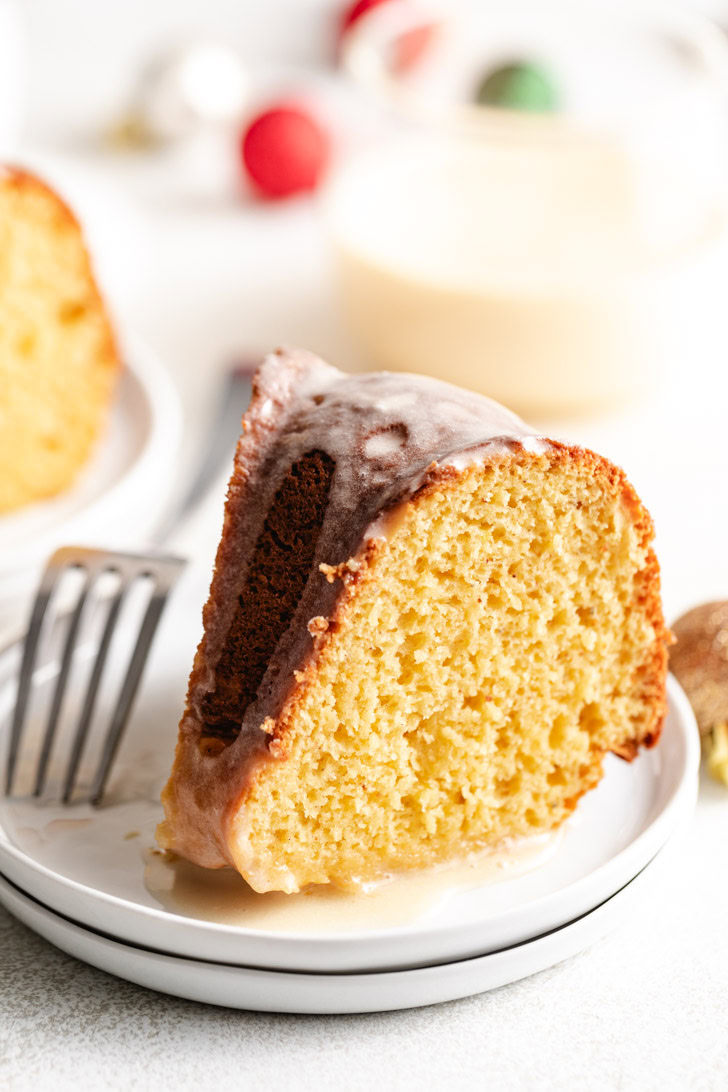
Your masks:
[[[73,482],[118,366],[76,221],[39,179],[0,167],[0,512]]]

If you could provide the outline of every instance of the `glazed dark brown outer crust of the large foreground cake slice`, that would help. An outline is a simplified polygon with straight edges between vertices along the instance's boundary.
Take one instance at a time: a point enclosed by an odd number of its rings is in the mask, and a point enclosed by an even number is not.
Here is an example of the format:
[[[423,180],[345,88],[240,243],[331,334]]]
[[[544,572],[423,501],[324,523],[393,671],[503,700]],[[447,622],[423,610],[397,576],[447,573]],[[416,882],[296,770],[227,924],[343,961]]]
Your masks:
[[[236,452],[160,844],[206,867],[235,864],[231,818],[261,771],[285,759],[307,686],[403,506],[489,460],[545,456],[577,464],[621,496],[648,548],[652,521],[621,470],[534,437],[487,399],[421,377],[343,377],[301,352],[265,363]],[[636,668],[652,713],[641,737],[614,748],[625,759],[656,743],[666,708],[652,549],[637,596],[655,632]]]

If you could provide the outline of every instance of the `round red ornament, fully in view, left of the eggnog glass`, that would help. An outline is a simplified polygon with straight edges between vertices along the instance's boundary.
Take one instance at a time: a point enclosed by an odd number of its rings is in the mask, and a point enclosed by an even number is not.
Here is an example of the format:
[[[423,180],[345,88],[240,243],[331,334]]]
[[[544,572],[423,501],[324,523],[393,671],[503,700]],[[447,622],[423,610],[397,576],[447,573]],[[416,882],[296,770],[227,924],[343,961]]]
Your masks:
[[[318,186],[329,162],[329,134],[299,106],[279,105],[259,114],[242,134],[242,162],[267,198],[287,198]]]

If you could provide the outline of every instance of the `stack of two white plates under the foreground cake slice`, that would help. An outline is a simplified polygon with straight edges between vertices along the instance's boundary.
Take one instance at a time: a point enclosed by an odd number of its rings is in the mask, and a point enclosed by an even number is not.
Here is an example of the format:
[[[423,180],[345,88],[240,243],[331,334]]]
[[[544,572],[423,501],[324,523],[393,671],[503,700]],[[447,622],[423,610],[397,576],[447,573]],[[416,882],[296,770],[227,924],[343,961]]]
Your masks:
[[[23,797],[0,805],[0,902],[31,928],[95,966],[181,997],[359,1012],[503,985],[574,954],[637,912],[661,850],[695,799],[697,731],[672,679],[653,751],[631,764],[609,756],[601,784],[559,835],[490,865],[480,859],[469,873],[461,865],[396,879],[374,894],[255,897],[232,873],[165,858],[154,848],[158,793],[207,580],[188,573],[168,607],[105,807]],[[80,651],[79,676],[89,651]],[[17,660],[17,645],[0,656],[4,738]],[[36,672],[31,736],[44,723],[56,674],[51,641]],[[83,678],[74,679],[61,734],[73,727],[82,693]],[[112,698],[111,688],[99,719]],[[27,779],[29,752],[23,764]]]

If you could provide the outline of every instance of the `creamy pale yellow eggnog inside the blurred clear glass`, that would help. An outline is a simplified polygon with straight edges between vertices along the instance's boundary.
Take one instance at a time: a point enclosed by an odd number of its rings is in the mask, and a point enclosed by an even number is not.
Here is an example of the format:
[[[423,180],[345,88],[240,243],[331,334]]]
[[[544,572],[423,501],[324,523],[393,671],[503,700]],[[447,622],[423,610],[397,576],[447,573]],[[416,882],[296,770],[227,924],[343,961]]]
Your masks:
[[[330,222],[368,366],[540,414],[649,390],[696,331],[725,344],[725,225],[705,207],[608,141],[413,141],[345,167]]]

